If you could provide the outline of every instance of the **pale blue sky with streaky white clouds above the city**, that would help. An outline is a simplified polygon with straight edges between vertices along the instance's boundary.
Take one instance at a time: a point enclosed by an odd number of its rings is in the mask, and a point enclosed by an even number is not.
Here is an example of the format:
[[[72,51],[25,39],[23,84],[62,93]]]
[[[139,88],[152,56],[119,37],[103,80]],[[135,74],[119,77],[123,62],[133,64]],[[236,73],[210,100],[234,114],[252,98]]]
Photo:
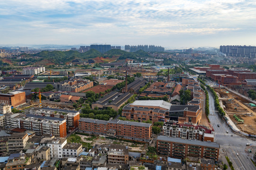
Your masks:
[[[0,0],[0,45],[256,46],[256,0]]]

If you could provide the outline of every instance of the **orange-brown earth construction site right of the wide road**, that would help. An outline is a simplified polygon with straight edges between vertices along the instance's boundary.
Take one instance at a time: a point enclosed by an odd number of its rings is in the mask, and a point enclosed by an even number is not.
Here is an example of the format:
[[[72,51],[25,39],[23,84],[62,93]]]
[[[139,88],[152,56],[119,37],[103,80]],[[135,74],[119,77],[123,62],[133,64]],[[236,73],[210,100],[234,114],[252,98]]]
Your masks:
[[[256,135],[256,105],[226,89],[214,88],[214,90],[220,96],[220,105],[234,124],[242,132]]]

